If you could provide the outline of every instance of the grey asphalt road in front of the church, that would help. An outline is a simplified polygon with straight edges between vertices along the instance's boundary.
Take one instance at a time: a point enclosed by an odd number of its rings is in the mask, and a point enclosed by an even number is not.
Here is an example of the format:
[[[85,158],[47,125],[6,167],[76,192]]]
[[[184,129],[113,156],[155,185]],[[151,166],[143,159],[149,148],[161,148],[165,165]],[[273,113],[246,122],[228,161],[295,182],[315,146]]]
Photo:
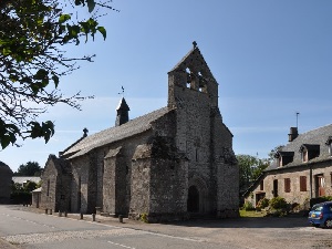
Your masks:
[[[305,217],[191,220],[142,224],[97,217],[92,222],[0,206],[0,239],[21,249],[253,249],[332,248],[332,229],[310,227]],[[9,249],[1,243],[0,248]]]

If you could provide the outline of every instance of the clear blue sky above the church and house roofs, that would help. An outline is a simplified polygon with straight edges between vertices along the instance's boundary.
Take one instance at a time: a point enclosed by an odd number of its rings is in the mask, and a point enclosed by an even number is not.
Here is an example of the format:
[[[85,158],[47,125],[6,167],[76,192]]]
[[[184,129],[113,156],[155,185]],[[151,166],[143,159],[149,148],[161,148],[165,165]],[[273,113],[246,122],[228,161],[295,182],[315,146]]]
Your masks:
[[[114,126],[122,95],[129,118],[167,105],[167,72],[196,41],[219,83],[219,108],[234,134],[234,151],[259,158],[288,143],[291,126],[304,133],[332,123],[331,0],[113,0],[100,20],[107,30],[94,42],[70,48],[72,56],[96,54],[93,63],[61,79],[66,96],[93,100],[82,111],[49,108],[39,121],[55,134],[0,151],[13,172],[28,162],[44,167],[83,135]],[[297,113],[298,122],[297,122]],[[332,135],[332,134],[331,134]]]

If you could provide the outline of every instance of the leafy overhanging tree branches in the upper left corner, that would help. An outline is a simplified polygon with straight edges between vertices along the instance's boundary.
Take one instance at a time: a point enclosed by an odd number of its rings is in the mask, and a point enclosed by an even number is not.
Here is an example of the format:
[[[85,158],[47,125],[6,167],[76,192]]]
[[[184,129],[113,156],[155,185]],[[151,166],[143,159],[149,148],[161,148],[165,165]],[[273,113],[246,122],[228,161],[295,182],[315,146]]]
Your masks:
[[[89,17],[81,13],[89,9]],[[96,33],[100,8],[114,10],[97,0],[0,1],[0,144],[6,148],[18,138],[44,138],[54,134],[51,121],[37,121],[49,106],[64,103],[80,110],[80,93],[64,97],[59,89],[63,75],[94,55],[68,58],[65,50]],[[73,13],[66,13],[72,10]],[[81,14],[80,14],[81,13]],[[83,18],[82,18],[83,15]]]

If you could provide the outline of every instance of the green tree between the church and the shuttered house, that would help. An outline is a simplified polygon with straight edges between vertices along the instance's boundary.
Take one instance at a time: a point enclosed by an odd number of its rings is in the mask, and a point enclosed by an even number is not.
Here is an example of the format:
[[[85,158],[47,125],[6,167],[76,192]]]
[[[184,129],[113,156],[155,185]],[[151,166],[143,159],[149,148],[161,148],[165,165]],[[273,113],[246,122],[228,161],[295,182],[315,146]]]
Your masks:
[[[243,193],[269,166],[269,160],[250,155],[237,155],[236,157],[239,165],[240,193]]]

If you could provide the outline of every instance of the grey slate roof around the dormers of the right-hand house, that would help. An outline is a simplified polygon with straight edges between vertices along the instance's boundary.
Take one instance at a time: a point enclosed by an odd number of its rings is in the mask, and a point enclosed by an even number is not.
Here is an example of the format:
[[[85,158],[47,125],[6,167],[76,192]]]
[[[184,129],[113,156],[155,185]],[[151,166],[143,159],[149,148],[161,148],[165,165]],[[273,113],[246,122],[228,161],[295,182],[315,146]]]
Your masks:
[[[332,136],[332,124],[317,129],[312,129],[303,134],[299,134],[299,136],[295,139],[293,139],[292,142],[290,142],[289,144],[287,144],[280,149],[281,153],[293,152],[294,153],[293,162],[279,168],[281,169],[287,167],[305,165],[308,163],[318,163],[318,162],[332,159],[329,154],[329,148],[325,144],[329,137],[331,136]],[[310,159],[308,163],[303,163],[301,157],[301,152],[300,152],[302,145],[304,145],[307,148],[317,148],[319,146],[320,155],[318,157]],[[278,168],[277,160],[273,160],[273,163],[266,170],[268,172],[277,168]]]

